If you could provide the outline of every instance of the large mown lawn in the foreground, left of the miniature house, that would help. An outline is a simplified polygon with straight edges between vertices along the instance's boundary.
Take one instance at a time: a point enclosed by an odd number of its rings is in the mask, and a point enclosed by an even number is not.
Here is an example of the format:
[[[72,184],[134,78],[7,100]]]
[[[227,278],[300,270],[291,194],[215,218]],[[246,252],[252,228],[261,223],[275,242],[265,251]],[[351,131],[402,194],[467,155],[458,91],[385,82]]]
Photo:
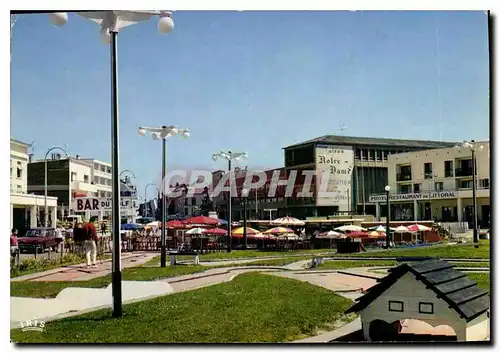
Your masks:
[[[194,304],[196,303],[196,304]],[[233,281],[66,318],[44,332],[11,330],[26,343],[275,343],[350,321],[349,299],[308,283],[250,273]]]

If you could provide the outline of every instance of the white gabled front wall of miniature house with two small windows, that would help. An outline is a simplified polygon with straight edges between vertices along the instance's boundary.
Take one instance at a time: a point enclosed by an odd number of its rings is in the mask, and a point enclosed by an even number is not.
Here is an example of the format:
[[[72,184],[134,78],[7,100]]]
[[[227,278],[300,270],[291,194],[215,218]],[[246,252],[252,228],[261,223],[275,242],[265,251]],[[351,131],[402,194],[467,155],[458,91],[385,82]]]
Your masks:
[[[392,323],[416,319],[433,327],[448,325],[455,330],[458,341],[466,340],[466,321],[454,309],[449,308],[448,303],[438,299],[432,289],[426,289],[425,284],[410,272],[372,301],[360,314],[364,330],[369,330],[373,320]]]

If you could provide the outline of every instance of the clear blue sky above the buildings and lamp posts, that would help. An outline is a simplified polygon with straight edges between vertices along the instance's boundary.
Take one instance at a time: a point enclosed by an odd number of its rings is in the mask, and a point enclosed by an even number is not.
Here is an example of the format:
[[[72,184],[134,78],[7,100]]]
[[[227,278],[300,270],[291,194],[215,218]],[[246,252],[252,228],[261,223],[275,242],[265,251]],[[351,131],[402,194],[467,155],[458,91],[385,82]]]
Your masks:
[[[489,139],[488,18],[476,12],[174,13],[118,38],[120,169],[157,182],[161,143],[138,126],[189,128],[168,140],[167,168],[223,169],[213,152],[247,152],[249,168],[326,134]],[[11,137],[111,161],[109,45],[75,14],[57,28],[21,15],[12,32]],[[345,125],[340,130],[340,125]],[[142,193],[142,192],[141,192]]]

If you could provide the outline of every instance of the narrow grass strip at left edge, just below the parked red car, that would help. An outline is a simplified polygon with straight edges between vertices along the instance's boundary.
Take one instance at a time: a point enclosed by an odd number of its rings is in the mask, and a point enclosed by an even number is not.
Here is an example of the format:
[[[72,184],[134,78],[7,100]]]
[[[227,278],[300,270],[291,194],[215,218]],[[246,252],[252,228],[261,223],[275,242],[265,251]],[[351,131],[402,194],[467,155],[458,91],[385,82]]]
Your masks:
[[[19,266],[13,266],[11,265],[10,267],[10,277],[20,277],[24,275],[29,275],[32,273],[37,273],[37,272],[43,272],[43,271],[48,271],[52,270],[55,268],[59,268],[62,266],[68,266],[68,265],[77,265],[85,262],[85,256],[79,256],[76,254],[66,254],[63,256],[63,261],[61,263],[61,255],[56,254],[57,256],[54,256],[51,259],[48,258],[42,258],[39,257],[37,259],[35,258],[29,258],[21,261],[21,264]],[[99,254],[97,256],[98,260],[108,260],[111,259],[110,254],[104,254],[101,255]]]

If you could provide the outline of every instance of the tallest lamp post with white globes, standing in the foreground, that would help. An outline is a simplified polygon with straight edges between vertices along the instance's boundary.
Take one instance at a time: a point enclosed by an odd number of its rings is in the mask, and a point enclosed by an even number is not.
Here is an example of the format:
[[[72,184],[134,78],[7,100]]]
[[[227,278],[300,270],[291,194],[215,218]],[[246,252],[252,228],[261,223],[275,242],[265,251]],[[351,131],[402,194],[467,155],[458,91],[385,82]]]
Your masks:
[[[111,59],[111,156],[112,156],[112,233],[113,233],[113,260],[112,260],[112,293],[113,317],[121,317],[122,288],[121,288],[121,237],[120,237],[120,178],[119,178],[119,139],[118,139],[118,32],[130,25],[146,21],[157,15],[158,29],[162,33],[169,33],[174,28],[172,12],[170,11],[82,11],[78,15],[85,17],[101,26],[101,40],[110,46]],[[51,22],[62,26],[68,22],[66,12],[51,12]],[[118,246],[117,246],[118,245]]]

